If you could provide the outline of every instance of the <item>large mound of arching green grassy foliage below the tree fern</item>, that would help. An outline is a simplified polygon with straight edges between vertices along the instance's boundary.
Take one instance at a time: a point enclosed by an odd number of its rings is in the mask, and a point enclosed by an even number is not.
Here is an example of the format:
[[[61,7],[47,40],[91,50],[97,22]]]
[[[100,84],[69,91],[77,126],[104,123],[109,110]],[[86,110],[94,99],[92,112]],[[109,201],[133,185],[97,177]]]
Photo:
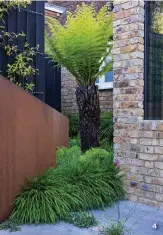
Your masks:
[[[11,220],[55,223],[70,212],[104,208],[124,196],[122,175],[103,149],[79,154],[79,147],[59,149],[57,167],[29,180],[15,199]]]

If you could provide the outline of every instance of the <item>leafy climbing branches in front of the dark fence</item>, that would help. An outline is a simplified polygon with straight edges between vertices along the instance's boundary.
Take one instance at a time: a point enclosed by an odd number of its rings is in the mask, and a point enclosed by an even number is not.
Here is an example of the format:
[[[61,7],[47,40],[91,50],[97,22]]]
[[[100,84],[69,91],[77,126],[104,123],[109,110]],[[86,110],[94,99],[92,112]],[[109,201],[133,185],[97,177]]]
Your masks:
[[[20,38],[26,39],[23,32],[18,34],[5,31],[4,14],[12,9],[26,8],[30,4],[30,0],[12,0],[0,2],[0,48],[5,51],[6,56],[12,60],[12,63],[7,64],[5,75],[16,85],[23,87],[28,92],[33,92],[34,84],[30,82],[30,76],[38,72],[32,65],[34,56],[38,53],[37,47],[31,47],[27,42],[22,48],[17,45],[17,40]],[[26,41],[26,40],[25,40]],[[0,71],[0,74],[3,73]]]

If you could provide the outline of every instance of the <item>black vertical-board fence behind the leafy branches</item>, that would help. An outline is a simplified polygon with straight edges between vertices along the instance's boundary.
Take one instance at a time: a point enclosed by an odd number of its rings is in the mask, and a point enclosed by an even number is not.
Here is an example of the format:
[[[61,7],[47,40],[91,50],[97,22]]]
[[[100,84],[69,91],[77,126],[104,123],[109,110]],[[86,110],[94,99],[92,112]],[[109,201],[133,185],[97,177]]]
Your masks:
[[[24,42],[31,47],[39,45],[39,53],[33,60],[33,66],[38,70],[36,75],[30,77],[35,85],[34,95],[54,109],[61,111],[61,71],[50,62],[44,54],[44,1],[33,1],[27,8],[12,9],[3,17],[4,29],[16,34],[24,32],[26,38],[19,37],[15,44],[21,49]],[[6,76],[6,66],[12,62],[12,57],[6,55],[0,48],[0,71]]]

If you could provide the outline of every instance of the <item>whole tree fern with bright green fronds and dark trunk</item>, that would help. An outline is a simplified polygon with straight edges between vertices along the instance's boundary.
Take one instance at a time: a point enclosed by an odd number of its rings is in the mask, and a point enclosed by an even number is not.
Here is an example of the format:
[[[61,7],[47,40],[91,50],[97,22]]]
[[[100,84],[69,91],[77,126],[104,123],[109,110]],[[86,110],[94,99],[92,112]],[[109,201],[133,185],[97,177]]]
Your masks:
[[[99,145],[100,107],[95,81],[111,69],[111,64],[103,64],[111,50],[112,14],[107,6],[97,13],[93,5],[83,3],[75,14],[68,13],[64,26],[52,18],[48,18],[47,26],[51,34],[46,34],[47,54],[66,67],[78,84],[81,149],[86,151]]]

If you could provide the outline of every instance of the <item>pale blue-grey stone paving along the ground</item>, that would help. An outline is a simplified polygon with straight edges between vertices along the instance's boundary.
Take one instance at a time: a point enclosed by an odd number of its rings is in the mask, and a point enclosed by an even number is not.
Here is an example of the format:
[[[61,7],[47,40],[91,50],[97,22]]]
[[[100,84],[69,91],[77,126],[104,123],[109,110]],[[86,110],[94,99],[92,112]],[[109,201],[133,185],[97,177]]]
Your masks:
[[[130,201],[119,202],[120,218],[122,221],[128,217],[126,225],[131,235],[163,235],[163,210],[135,204]],[[101,225],[118,218],[117,205],[104,211],[94,210],[92,213]],[[159,225],[157,230],[153,229],[154,223]],[[126,233],[127,235],[128,233]],[[99,235],[98,228],[80,229],[66,223],[56,225],[23,226],[20,232],[9,233],[0,231],[0,235]]]

